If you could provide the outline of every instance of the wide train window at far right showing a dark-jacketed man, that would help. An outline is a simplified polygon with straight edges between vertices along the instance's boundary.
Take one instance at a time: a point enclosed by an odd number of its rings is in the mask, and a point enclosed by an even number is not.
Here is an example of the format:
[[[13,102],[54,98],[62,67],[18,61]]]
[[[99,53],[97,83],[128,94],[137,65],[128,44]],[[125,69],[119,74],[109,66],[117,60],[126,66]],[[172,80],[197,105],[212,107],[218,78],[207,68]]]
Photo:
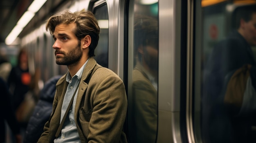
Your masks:
[[[256,2],[206,1],[195,6],[195,139],[255,142]]]

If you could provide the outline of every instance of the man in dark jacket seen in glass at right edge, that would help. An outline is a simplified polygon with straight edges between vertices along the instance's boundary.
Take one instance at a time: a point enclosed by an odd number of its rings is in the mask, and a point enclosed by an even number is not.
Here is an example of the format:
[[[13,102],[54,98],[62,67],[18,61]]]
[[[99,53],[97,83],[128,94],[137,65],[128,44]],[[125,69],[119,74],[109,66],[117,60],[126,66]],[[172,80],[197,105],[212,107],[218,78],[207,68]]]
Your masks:
[[[204,69],[202,135],[207,143],[252,141],[252,116],[239,117],[239,110],[230,114],[223,105],[225,77],[245,64],[256,65],[251,48],[256,46],[256,7],[238,8],[234,15],[237,30],[213,49]]]

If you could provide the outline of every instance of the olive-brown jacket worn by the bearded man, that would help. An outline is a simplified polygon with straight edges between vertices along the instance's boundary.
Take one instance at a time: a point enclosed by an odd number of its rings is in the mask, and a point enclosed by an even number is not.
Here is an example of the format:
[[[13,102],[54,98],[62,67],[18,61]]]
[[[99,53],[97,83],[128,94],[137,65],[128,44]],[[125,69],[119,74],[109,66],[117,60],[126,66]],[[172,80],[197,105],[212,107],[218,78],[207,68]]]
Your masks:
[[[123,125],[126,119],[127,97],[123,81],[112,70],[98,68],[89,83],[97,62],[90,57],[86,64],[75,106],[75,121],[82,143],[127,143]],[[56,84],[52,115],[45,123],[38,143],[53,143],[60,124],[61,106],[68,83],[65,74]]]

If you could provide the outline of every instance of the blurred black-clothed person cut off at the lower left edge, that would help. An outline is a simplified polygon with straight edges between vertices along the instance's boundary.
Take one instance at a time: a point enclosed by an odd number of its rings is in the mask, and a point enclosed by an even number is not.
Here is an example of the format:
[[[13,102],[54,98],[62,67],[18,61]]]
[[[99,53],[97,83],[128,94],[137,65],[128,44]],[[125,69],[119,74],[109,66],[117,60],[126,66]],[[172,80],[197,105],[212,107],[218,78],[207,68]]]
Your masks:
[[[20,126],[16,120],[14,110],[11,107],[10,94],[8,86],[5,83],[4,79],[0,77],[0,91],[1,91],[1,100],[0,108],[2,110],[2,115],[0,116],[0,143],[5,143],[6,139],[6,128],[5,121],[7,121],[13,135],[15,136],[16,143],[21,143],[22,136],[20,134]]]

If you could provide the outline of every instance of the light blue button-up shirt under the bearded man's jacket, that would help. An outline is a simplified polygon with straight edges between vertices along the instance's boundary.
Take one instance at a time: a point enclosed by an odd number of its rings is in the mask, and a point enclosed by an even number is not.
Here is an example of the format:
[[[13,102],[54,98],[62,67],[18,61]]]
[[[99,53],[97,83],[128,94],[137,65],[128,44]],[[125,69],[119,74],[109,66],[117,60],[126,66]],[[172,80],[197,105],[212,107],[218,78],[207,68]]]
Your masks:
[[[74,75],[73,77],[71,77],[70,73],[67,74],[66,81],[69,82],[69,84],[67,86],[67,91],[65,93],[65,97],[64,97],[63,104],[61,107],[61,121],[62,121],[64,114],[67,110],[67,106],[69,105],[70,100],[72,99],[72,96],[76,90],[76,87],[79,86],[79,82],[82,77],[83,69],[84,69],[85,65],[87,64],[87,62],[88,62],[88,60],[85,62],[85,64],[83,64],[83,66],[78,70],[76,75]],[[54,139],[54,143],[81,143],[79,134],[78,134],[77,128],[76,128],[76,123],[74,120],[76,97],[77,97],[77,93],[78,93],[77,91],[74,96],[73,104],[70,107],[70,111],[69,111],[67,118],[65,119],[64,125],[61,129],[61,134],[58,136],[57,139]]]

